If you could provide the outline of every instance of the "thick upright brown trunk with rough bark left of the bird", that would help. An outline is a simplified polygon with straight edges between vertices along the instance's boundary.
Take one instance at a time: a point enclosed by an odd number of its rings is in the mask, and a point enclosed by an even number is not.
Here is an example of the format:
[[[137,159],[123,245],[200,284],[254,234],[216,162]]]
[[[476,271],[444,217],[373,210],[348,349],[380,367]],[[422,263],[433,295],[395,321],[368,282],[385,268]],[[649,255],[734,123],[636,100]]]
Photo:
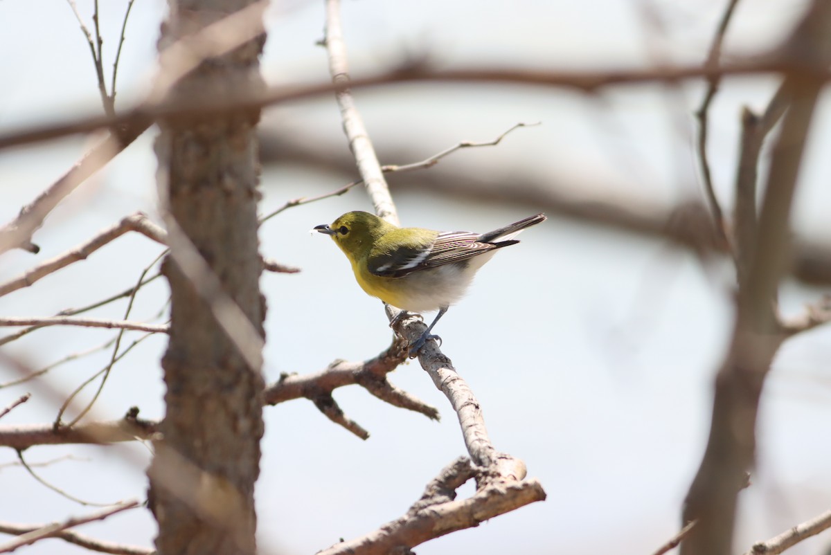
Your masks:
[[[160,51],[252,3],[170,0]],[[222,96],[263,86],[263,39],[204,61],[170,91],[179,99]],[[161,71],[165,71],[162,67]],[[161,204],[199,250],[263,335],[259,292],[258,112],[200,120],[167,120],[156,141]],[[166,196],[166,199],[165,199]],[[150,508],[159,524],[159,553],[254,553],[263,435],[263,379],[221,330],[208,304],[172,259],[166,414],[150,466]]]

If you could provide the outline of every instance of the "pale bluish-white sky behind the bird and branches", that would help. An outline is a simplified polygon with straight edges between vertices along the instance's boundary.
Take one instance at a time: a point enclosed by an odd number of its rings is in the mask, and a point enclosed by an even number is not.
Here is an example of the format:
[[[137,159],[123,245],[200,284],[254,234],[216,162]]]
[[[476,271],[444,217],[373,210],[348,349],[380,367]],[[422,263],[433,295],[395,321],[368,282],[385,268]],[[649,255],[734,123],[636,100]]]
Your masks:
[[[108,75],[125,3],[101,2]],[[361,0],[344,2],[342,11],[353,74],[360,76],[424,53],[436,63],[460,66],[695,63],[706,56],[724,3]],[[774,46],[803,6],[743,0],[727,55]],[[90,22],[91,2],[79,1],[78,7]],[[661,15],[663,34],[644,22],[650,9]],[[136,0],[119,71],[121,108],[139,101],[150,85],[163,12],[160,0]],[[273,2],[263,57],[270,83],[327,79],[325,53],[314,46],[322,26],[322,2]],[[7,52],[0,58],[0,132],[100,110],[88,47],[66,2],[0,2],[0,37]],[[774,88],[770,79],[733,80],[715,101],[710,153],[725,205],[735,172],[739,108],[765,106]],[[498,147],[460,152],[442,164],[532,167],[552,186],[573,192],[671,204],[700,194],[687,134],[701,91],[701,86],[686,86],[681,91],[686,100],[679,105],[667,103],[665,91],[631,87],[604,94],[601,104],[542,88],[428,84],[358,91],[356,101],[376,144],[409,145],[425,156],[460,140],[490,140],[517,121],[541,121],[515,131]],[[794,215],[797,233],[819,241],[831,240],[827,100],[815,121]],[[331,98],[273,108],[265,113],[264,125],[291,126],[346,148]],[[4,255],[0,281],[135,210],[155,217],[154,135],[145,134],[61,204],[36,235],[42,253]],[[0,152],[0,221],[11,219],[89,145],[90,140],[71,137]],[[342,184],[342,176],[312,169],[268,168],[262,212]],[[460,204],[417,190],[394,194],[403,223],[437,229],[485,231],[540,210]],[[337,358],[375,356],[389,344],[380,303],[357,287],[331,241],[307,233],[352,209],[371,205],[353,191],[290,209],[263,225],[263,254],[302,268],[297,275],[265,273],[261,280],[268,298],[268,382],[283,371],[319,371]],[[416,552],[652,553],[679,527],[681,501],[706,441],[711,383],[731,327],[731,268],[705,271],[691,255],[666,243],[568,219],[548,219],[521,238],[519,246],[504,249],[483,268],[470,294],[450,309],[436,332],[484,407],[494,445],[524,459],[548,500],[431,541]],[[158,253],[160,247],[143,237],[122,237],[85,262],[2,297],[0,314],[47,316],[120,292]],[[784,310],[795,313],[822,292],[787,283]],[[165,298],[162,282],[147,287],[131,318],[152,317]],[[92,316],[120,318],[123,310],[118,304]],[[3,348],[37,368],[113,335],[55,327]],[[138,336],[128,335],[122,348]],[[737,553],[828,508],[829,337],[827,329],[799,336],[774,363],[762,400],[760,468],[753,486],[741,494]],[[115,367],[96,404],[98,417],[120,417],[131,405],[146,418],[163,415],[158,361],[165,344],[165,337],[151,338]],[[108,356],[99,353],[61,366],[42,383],[68,393],[105,366]],[[0,366],[0,381],[16,376]],[[445,464],[465,454],[455,415],[420,367],[402,366],[391,379],[439,407],[441,423],[385,405],[357,387],[337,390],[335,397],[371,432],[367,441],[333,425],[307,400],[266,408],[257,489],[263,553],[315,553],[338,538],[369,533],[404,513]],[[32,400],[3,418],[2,425],[54,419],[56,406],[37,384],[0,389],[0,406],[26,391],[32,391]],[[39,471],[88,501],[143,499],[144,468],[112,456],[114,449],[145,461],[149,457],[140,444],[39,447],[26,456],[32,463],[76,456]],[[14,460],[10,449],[0,450],[0,464]],[[0,491],[0,520],[47,522],[93,510],[44,488],[15,466],[0,466]],[[469,484],[462,494],[471,491]],[[150,546],[155,523],[138,510],[79,531]],[[829,543],[820,536],[790,553],[821,553]],[[57,550],[81,552],[47,540],[19,553]]]

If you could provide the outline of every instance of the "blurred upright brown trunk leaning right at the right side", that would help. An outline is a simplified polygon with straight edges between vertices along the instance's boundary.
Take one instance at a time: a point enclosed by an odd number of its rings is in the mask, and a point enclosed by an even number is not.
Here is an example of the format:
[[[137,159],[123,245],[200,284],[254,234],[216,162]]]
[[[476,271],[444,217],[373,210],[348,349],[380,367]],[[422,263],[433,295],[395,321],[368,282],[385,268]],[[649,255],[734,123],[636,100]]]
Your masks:
[[[831,3],[817,0],[783,52],[827,67]],[[730,351],[715,379],[710,437],[686,497],[684,522],[698,524],[681,543],[682,555],[728,555],[742,474],[755,458],[755,424],[770,363],[784,341],[775,307],[789,250],[789,215],[808,130],[824,83],[810,71],[785,76],[791,104],[774,146],[746,281],[739,282]]]

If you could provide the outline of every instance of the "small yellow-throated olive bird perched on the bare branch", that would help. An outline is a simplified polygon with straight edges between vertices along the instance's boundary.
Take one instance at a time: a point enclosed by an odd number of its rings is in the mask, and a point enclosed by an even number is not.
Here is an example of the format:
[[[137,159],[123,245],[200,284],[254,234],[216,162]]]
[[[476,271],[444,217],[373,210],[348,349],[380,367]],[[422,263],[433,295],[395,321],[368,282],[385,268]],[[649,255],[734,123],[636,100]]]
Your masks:
[[[524,228],[545,221],[537,214],[488,233],[438,232],[424,228],[398,228],[368,212],[347,212],[332,224],[314,230],[332,237],[352,263],[358,285],[372,297],[407,312],[438,310],[430,327],[411,345],[410,355],[430,339],[448,307],[465,294],[482,265],[497,248],[519,241],[513,237]]]

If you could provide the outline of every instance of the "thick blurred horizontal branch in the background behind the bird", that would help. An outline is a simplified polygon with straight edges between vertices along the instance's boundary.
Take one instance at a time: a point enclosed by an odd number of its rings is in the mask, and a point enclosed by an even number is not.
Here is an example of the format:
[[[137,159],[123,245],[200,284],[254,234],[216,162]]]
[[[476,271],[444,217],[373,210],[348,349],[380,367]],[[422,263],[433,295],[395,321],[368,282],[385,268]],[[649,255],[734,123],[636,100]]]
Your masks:
[[[265,130],[260,134],[263,164],[303,164],[344,175],[354,172],[354,163],[348,156],[322,149],[322,143],[322,137],[309,135],[307,130]],[[379,155],[381,160],[413,160],[417,156],[414,149],[391,150],[389,146],[379,149]],[[525,167],[501,173],[457,163],[455,167],[438,165],[417,174],[391,174],[389,180],[394,190],[423,190],[460,199],[470,199],[475,194],[477,199],[500,205],[530,205],[549,216],[667,239],[696,253],[727,253],[728,245],[715,236],[711,216],[703,204],[668,206],[654,198],[638,198],[634,193],[626,197],[588,194],[583,191],[603,188],[593,183],[553,184],[547,176],[536,175]],[[505,187],[505,183],[511,187]],[[791,255],[795,279],[811,285],[831,284],[831,244],[794,238]]]

